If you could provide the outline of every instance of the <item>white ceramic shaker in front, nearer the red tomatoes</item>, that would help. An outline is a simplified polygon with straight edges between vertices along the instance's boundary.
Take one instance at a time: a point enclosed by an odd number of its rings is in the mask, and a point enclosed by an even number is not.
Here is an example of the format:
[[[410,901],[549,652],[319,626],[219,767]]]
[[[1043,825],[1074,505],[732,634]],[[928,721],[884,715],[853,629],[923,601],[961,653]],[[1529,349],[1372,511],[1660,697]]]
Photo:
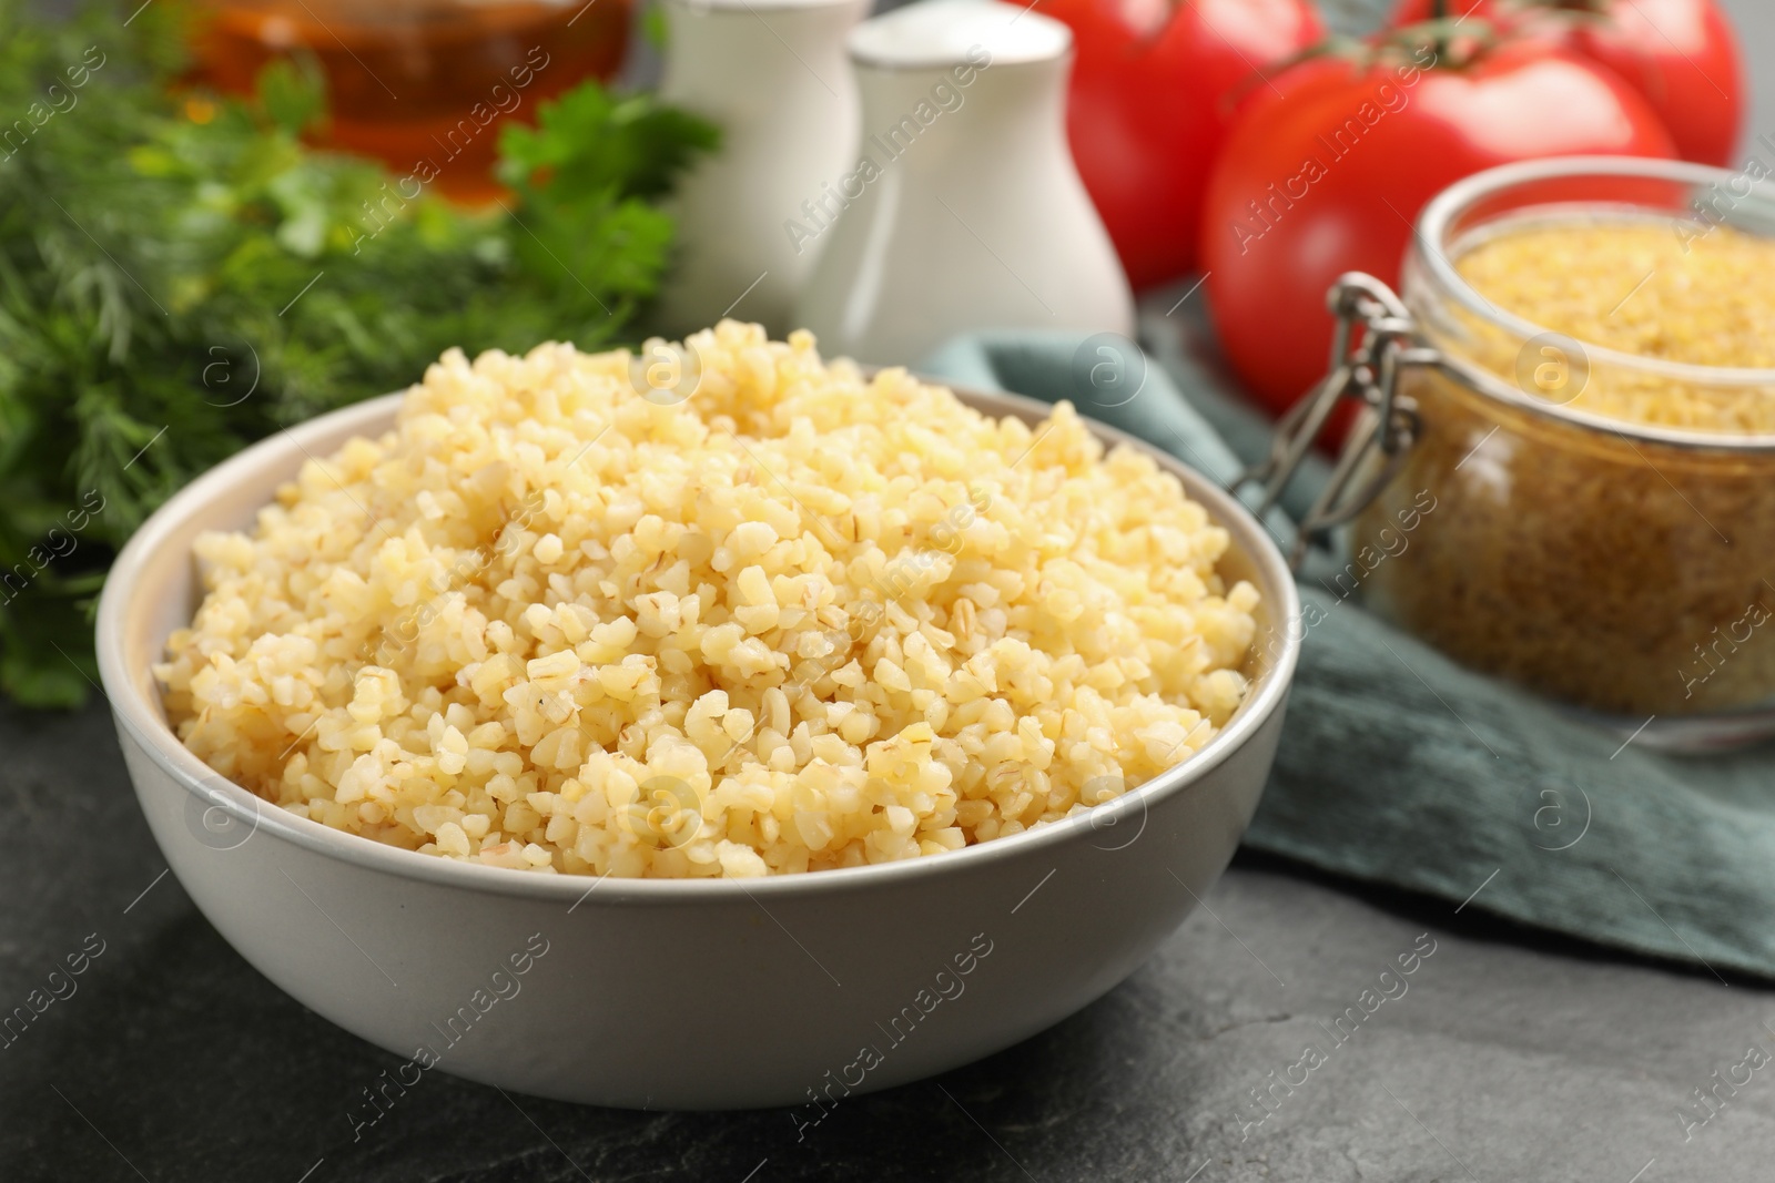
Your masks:
[[[974,328],[1132,335],[1127,278],[1067,149],[1072,32],[990,0],[927,0],[864,21],[848,48],[863,145],[788,231],[824,247],[795,303],[820,351],[912,365]]]

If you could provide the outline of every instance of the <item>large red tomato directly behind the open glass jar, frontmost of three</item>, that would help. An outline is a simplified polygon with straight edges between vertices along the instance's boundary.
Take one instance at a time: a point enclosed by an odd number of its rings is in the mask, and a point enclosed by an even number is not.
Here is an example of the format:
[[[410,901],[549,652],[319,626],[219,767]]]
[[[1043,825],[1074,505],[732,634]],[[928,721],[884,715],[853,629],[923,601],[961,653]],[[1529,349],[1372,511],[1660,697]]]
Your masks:
[[[1457,69],[1425,69],[1429,44],[1402,53],[1276,76],[1239,112],[1209,181],[1209,310],[1271,410],[1326,371],[1331,282],[1358,270],[1397,284],[1411,222],[1454,181],[1541,156],[1674,156],[1645,99],[1557,46],[1507,41]]]

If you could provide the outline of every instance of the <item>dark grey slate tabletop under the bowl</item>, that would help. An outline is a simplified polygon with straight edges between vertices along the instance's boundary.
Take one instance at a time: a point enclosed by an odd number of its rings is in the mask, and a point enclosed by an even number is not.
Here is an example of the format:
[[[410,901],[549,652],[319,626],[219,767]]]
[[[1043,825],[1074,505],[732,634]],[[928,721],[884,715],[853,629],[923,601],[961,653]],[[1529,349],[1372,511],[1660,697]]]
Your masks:
[[[580,1109],[442,1075],[353,1140],[398,1059],[259,977],[163,874],[101,708],[0,709],[0,1009],[103,942],[0,1048],[7,1183],[1775,1178],[1775,1064],[1740,1068],[1775,1048],[1766,988],[1248,858],[1095,1006],[804,1140],[781,1110]]]

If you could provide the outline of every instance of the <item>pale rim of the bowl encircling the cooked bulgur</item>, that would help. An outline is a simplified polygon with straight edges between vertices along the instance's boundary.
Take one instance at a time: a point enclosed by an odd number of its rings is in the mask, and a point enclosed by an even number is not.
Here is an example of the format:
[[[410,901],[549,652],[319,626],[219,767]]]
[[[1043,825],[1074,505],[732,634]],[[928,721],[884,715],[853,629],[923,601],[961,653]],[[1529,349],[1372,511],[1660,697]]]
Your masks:
[[[1053,410],[1049,403],[1001,390],[969,388],[928,378],[923,378],[923,381],[943,385],[969,406],[994,417],[1017,415],[1024,420],[1040,420]],[[1182,764],[1152,777],[1122,796],[1092,807],[1077,818],[1008,837],[943,851],[941,855],[923,855],[863,867],[770,874],[754,880],[728,876],[694,880],[621,878],[609,873],[602,876],[540,874],[534,871],[488,867],[485,864],[421,855],[419,851],[389,846],[359,834],[335,830],[320,821],[291,814],[233,780],[225,780],[186,748],[172,727],[162,720],[158,701],[151,702],[144,692],[144,686],[153,685],[153,674],[147,674],[146,679],[135,678],[137,670],[131,670],[124,653],[124,624],[131,617],[131,603],[138,598],[138,582],[144,566],[165,544],[167,536],[181,529],[190,516],[220,495],[225,495],[248,474],[257,475],[268,465],[279,465],[293,472],[305,456],[314,456],[312,449],[316,445],[327,449],[330,454],[353,435],[382,435],[390,429],[403,397],[405,392],[396,392],[366,399],[364,403],[355,403],[286,427],[236,452],[188,482],[156,509],[137,529],[128,544],[124,544],[105,580],[98,608],[96,649],[99,681],[103,683],[105,697],[119,731],[126,733],[149,761],[190,795],[188,807],[202,803],[206,811],[225,811],[234,821],[250,827],[248,839],[264,830],[273,837],[360,869],[499,896],[572,901],[568,912],[591,897],[593,892],[607,905],[731,903],[746,897],[756,901],[758,897],[843,894],[886,887],[911,878],[958,874],[987,864],[1019,858],[1058,846],[1079,830],[1104,830],[1127,821],[1134,814],[1138,814],[1141,827],[1145,827],[1147,811],[1156,802],[1182,793],[1203,780],[1235,750],[1244,747],[1287,702],[1303,640],[1303,630],[1296,628],[1296,623],[1301,619],[1301,601],[1294,578],[1289,575],[1287,560],[1269,532],[1211,475],[1189,468],[1175,456],[1136,436],[1086,419],[1086,427],[1104,443],[1136,447],[1166,472],[1172,472],[1184,484],[1189,498],[1202,504],[1216,525],[1228,530],[1232,546],[1244,553],[1255,575],[1266,584],[1266,587],[1260,587],[1260,592],[1269,605],[1273,630],[1282,639],[1280,651],[1271,651],[1269,667],[1255,681],[1255,692],[1246,697],[1232,720],[1196,756]],[[327,443],[323,440],[334,442]],[[131,772],[131,782],[135,780],[137,777]],[[140,791],[140,786],[137,789]],[[245,844],[247,839],[241,839],[241,844],[234,850],[241,850]]]

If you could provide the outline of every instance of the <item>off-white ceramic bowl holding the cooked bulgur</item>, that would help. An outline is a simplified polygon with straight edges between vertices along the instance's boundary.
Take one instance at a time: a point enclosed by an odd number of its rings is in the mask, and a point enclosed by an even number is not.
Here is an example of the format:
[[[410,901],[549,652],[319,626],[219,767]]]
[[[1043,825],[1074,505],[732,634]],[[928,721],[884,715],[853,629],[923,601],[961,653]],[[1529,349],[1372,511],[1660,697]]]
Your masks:
[[[994,415],[1047,411],[960,394]],[[888,866],[671,881],[458,864],[261,802],[174,738],[149,672],[199,599],[192,539],[248,525],[309,454],[387,429],[398,399],[193,481],[119,555],[98,617],[105,693],[172,873],[259,972],[414,1059],[389,1080],[437,1068],[596,1105],[804,1105],[797,1121],[816,1121],[847,1093],[966,1064],[1106,993],[1239,844],[1282,731],[1299,601],[1264,529],[1152,449],[1232,532],[1227,571],[1262,592],[1255,685],[1193,759],[1081,819]]]

